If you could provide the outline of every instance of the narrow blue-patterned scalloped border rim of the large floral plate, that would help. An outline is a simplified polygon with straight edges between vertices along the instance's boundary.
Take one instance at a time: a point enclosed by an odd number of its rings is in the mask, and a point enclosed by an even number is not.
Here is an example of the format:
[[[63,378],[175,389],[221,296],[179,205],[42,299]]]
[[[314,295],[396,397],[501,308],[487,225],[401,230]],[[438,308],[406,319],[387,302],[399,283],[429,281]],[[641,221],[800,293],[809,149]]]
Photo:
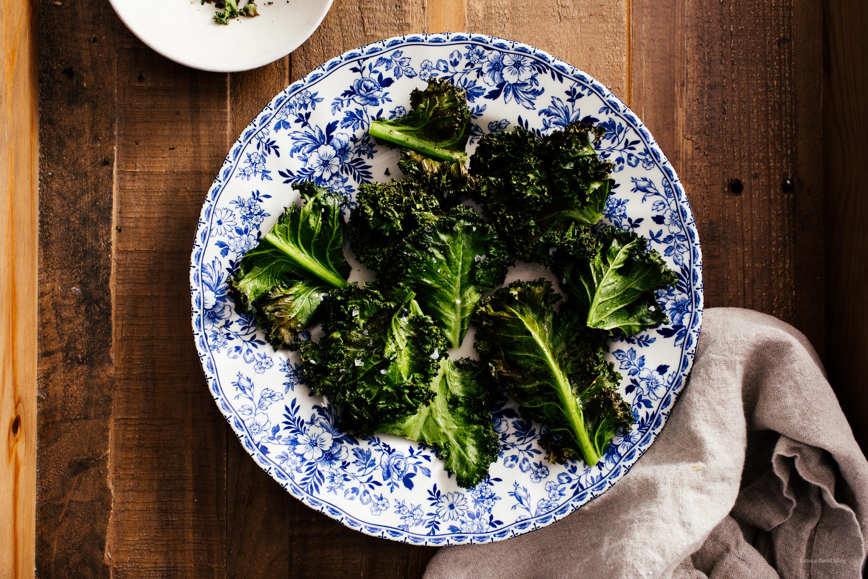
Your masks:
[[[583,504],[586,504],[590,500],[593,500],[593,498],[600,496],[603,492],[611,488],[613,484],[615,484],[622,477],[624,477],[627,472],[633,467],[633,465],[639,460],[639,458],[641,458],[641,456],[644,455],[646,451],[648,451],[648,448],[650,447],[650,444],[654,442],[654,439],[660,435],[661,429],[666,424],[669,413],[668,411],[671,411],[672,405],[674,405],[679,394],[687,383],[687,378],[693,365],[696,346],[700,336],[703,308],[703,292],[701,278],[702,260],[699,236],[696,232],[695,227],[695,220],[689,207],[689,203],[687,201],[687,194],[681,186],[681,181],[674,173],[674,169],[671,167],[666,156],[658,147],[656,141],[654,141],[654,138],[648,132],[648,129],[645,128],[641,120],[635,114],[633,114],[633,112],[623,102],[621,102],[621,99],[611,93],[600,82],[595,81],[592,76],[583,73],[582,70],[575,68],[569,63],[564,63],[555,56],[549,55],[549,53],[544,50],[536,49],[527,44],[506,40],[497,36],[476,35],[470,33],[411,34],[404,36],[393,36],[391,38],[386,38],[375,43],[366,44],[357,49],[347,50],[344,54],[329,59],[326,63],[323,63],[318,68],[313,69],[306,76],[300,78],[296,82],[293,82],[289,87],[282,90],[278,95],[276,95],[272,99],[272,101],[269,102],[260,111],[260,113],[254,116],[253,121],[250,122],[247,125],[247,128],[245,128],[241,132],[239,138],[234,141],[232,147],[229,149],[229,153],[226,159],[220,165],[220,170],[218,171],[217,177],[212,183],[211,188],[209,188],[208,190],[209,193],[206,196],[206,201],[203,203],[200,220],[197,224],[195,240],[198,240],[200,238],[202,228],[206,225],[205,221],[202,218],[206,215],[207,208],[210,205],[216,203],[217,199],[219,199],[219,194],[222,193],[223,189],[227,185],[228,179],[230,178],[229,176],[221,178],[221,175],[225,174],[227,167],[233,166],[234,169],[237,168],[240,164],[240,155],[237,155],[233,159],[233,153],[235,153],[236,151],[240,152],[249,142],[253,140],[253,137],[257,131],[251,131],[251,129],[257,128],[257,121],[260,121],[260,127],[264,124],[267,124],[261,122],[260,115],[268,111],[269,121],[271,121],[273,115],[276,115],[278,113],[279,105],[281,103],[288,101],[290,98],[293,97],[293,95],[298,94],[300,91],[309,88],[310,86],[312,86],[313,83],[325,80],[325,78],[331,76],[332,73],[340,69],[344,64],[352,62],[352,60],[354,59],[372,56],[377,52],[385,51],[387,49],[395,49],[399,46],[419,46],[428,44],[443,46],[453,43],[484,44],[502,51],[514,51],[516,53],[522,54],[523,56],[540,58],[542,61],[544,61],[546,66],[549,66],[549,68],[557,69],[559,73],[561,73],[563,76],[572,77],[577,82],[583,82],[589,85],[589,87],[594,89],[595,93],[603,100],[603,102],[608,102],[609,104],[615,105],[615,111],[613,114],[620,117],[621,120],[623,120],[625,123],[628,123],[628,125],[630,125],[632,128],[635,128],[636,134],[640,136],[641,140],[648,147],[648,149],[654,150],[654,152],[658,155],[658,159],[654,160],[654,165],[661,169],[664,180],[667,180],[669,182],[669,185],[673,188],[675,199],[678,202],[681,210],[684,212],[683,215],[679,214],[679,219],[681,220],[682,227],[683,229],[690,231],[694,235],[694,240],[690,242],[691,249],[689,252],[691,261],[690,270],[694,275],[694,280],[692,280],[691,285],[691,289],[693,290],[693,308],[691,310],[690,323],[685,325],[688,334],[692,335],[693,339],[690,345],[687,345],[687,339],[683,340],[681,344],[681,365],[683,366],[683,368],[680,372],[676,372],[674,374],[672,382],[667,385],[666,392],[664,392],[664,394],[661,396],[661,398],[667,395],[673,396],[672,402],[669,403],[667,409],[665,409],[667,411],[661,411],[657,418],[654,418],[655,424],[649,427],[648,431],[644,434],[644,436],[640,438],[639,441],[634,445],[633,448],[635,449],[636,456],[630,460],[629,464],[622,464],[626,460],[628,460],[627,457],[622,456],[620,458],[618,464],[621,464],[621,468],[617,475],[610,475],[608,477],[602,478],[597,483],[592,484],[591,486],[586,488],[584,490],[584,493],[587,495],[587,497],[583,498],[581,501],[576,501],[573,500],[573,497],[569,497],[566,502],[558,503],[554,508],[552,508],[545,514],[529,517],[523,521],[516,521],[515,523],[505,524],[503,527],[500,527],[496,530],[486,531],[484,533],[449,532],[438,533],[434,536],[404,531],[396,527],[384,525],[382,523],[365,522],[361,519],[361,517],[346,512],[338,505],[330,503],[322,497],[312,497],[308,495],[306,492],[301,490],[298,485],[294,484],[288,476],[285,480],[280,480],[279,477],[275,477],[275,475],[273,474],[273,470],[277,469],[282,471],[279,465],[274,464],[273,461],[271,461],[270,459],[264,458],[260,455],[260,453],[252,451],[250,448],[248,448],[247,444],[244,444],[244,438],[247,436],[252,439],[253,437],[250,435],[250,432],[247,431],[247,424],[245,424],[243,420],[240,420],[240,424],[244,424],[244,428],[237,428],[236,425],[233,424],[233,420],[231,419],[233,417],[237,417],[237,411],[229,413],[227,411],[224,411],[224,409],[220,406],[220,397],[214,393],[214,383],[220,386],[220,392],[223,391],[223,386],[220,383],[220,378],[217,376],[217,373],[210,372],[207,369],[206,355],[213,357],[213,352],[211,352],[210,350],[207,350],[207,352],[202,352],[200,345],[197,341],[196,349],[201,361],[203,372],[205,373],[207,382],[209,383],[209,391],[212,392],[215,403],[218,403],[220,413],[224,416],[224,418],[227,418],[227,422],[228,424],[230,424],[233,432],[235,432],[236,436],[239,437],[242,446],[245,447],[245,450],[251,455],[251,457],[253,457],[254,461],[260,465],[260,468],[266,470],[269,476],[272,477],[284,489],[286,489],[287,492],[293,495],[293,497],[298,498],[302,503],[305,503],[312,509],[318,510],[319,512],[324,513],[326,516],[329,516],[332,519],[335,519],[340,523],[345,524],[353,530],[358,530],[365,535],[378,536],[403,543],[434,546],[444,546],[450,544],[493,543],[496,541],[511,538],[513,536],[522,535],[524,533],[542,528],[544,526],[548,526],[551,523],[555,523],[556,521],[561,520],[563,517],[569,515],[574,510],[580,508]],[[214,196],[215,193],[217,193],[216,196]],[[213,214],[211,217],[209,217],[209,219],[212,218]],[[210,228],[211,227],[209,225],[209,229]],[[195,300],[197,292],[197,289],[195,287],[195,273],[197,267],[201,268],[201,260],[197,260],[196,258],[197,248],[198,244],[194,241],[194,252],[191,255],[190,273],[192,301],[191,314],[193,316],[194,337],[198,336],[199,333],[201,333],[195,325],[195,316],[198,313]],[[201,252],[201,254],[202,256],[204,256],[204,250]],[[201,281],[199,282],[199,285],[201,286]],[[687,362],[686,365],[685,362]],[[648,442],[648,444],[646,444],[644,448],[641,448],[641,443],[649,437],[650,441]],[[628,452],[627,454],[630,453]],[[263,464],[263,462],[266,462],[266,464]],[[616,467],[613,467],[613,471]],[[566,507],[566,509],[564,509],[564,507]],[[561,512],[560,514],[556,514],[557,511],[563,512]],[[347,518],[352,519],[352,521],[356,524],[353,525],[346,522]],[[545,521],[539,523],[539,519],[545,519]],[[474,540],[475,538],[481,540]]]

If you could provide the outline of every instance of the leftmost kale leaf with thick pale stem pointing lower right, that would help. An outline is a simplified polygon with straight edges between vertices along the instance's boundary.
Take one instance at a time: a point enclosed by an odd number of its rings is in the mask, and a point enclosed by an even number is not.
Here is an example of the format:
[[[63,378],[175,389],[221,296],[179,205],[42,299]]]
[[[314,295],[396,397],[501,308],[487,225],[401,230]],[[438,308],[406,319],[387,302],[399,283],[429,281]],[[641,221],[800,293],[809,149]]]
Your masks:
[[[345,198],[310,182],[293,188],[305,204],[286,207],[240,260],[229,286],[236,309],[253,314],[275,348],[296,350],[299,332],[311,324],[322,295],[346,285],[350,266],[341,249]]]

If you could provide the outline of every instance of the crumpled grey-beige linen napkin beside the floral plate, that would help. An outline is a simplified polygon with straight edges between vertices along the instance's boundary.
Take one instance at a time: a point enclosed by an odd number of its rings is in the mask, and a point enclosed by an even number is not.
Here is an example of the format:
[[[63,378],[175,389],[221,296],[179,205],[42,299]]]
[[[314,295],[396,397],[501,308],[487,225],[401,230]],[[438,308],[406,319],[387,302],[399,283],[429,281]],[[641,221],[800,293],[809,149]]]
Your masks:
[[[816,352],[779,319],[714,308],[627,476],[542,530],[440,549],[425,579],[843,579],[861,576],[866,532],[868,462]]]

